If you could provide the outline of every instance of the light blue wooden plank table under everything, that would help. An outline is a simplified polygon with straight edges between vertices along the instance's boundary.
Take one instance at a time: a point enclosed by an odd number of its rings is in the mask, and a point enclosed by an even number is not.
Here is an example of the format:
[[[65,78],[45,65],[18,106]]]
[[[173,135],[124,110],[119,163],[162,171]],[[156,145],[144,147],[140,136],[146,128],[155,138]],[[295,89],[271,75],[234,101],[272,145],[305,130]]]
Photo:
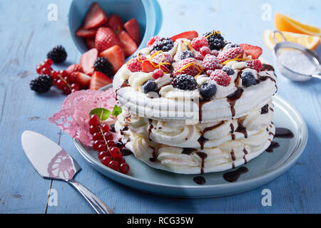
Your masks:
[[[64,182],[42,179],[21,148],[21,133],[28,129],[58,142],[81,165],[76,176],[116,213],[320,213],[321,212],[321,81],[292,83],[279,77],[277,93],[303,116],[309,130],[307,147],[284,175],[250,192],[212,199],[175,199],[137,192],[118,185],[91,166],[77,152],[69,135],[47,118],[61,108],[65,98],[52,89],[36,95],[29,81],[36,64],[57,44],[68,51],[68,63],[81,54],[68,31],[71,1],[58,0],[58,21],[49,21],[47,7],[53,1],[0,1],[0,213],[93,213],[87,202]],[[170,1],[161,0],[161,36],[180,31],[204,33],[219,29],[229,41],[263,47],[263,58],[272,53],[263,43],[264,29],[274,29],[274,14],[284,14],[321,26],[320,1]],[[265,5],[264,5],[265,4]],[[268,4],[268,5],[266,5]],[[272,20],[266,10],[270,9]],[[265,13],[263,15],[263,13]],[[173,23],[174,21],[174,23]],[[318,48],[320,53],[320,47]],[[65,66],[61,66],[63,68]],[[48,191],[56,190],[58,205],[47,205]],[[272,192],[272,206],[263,207],[263,189]]]

